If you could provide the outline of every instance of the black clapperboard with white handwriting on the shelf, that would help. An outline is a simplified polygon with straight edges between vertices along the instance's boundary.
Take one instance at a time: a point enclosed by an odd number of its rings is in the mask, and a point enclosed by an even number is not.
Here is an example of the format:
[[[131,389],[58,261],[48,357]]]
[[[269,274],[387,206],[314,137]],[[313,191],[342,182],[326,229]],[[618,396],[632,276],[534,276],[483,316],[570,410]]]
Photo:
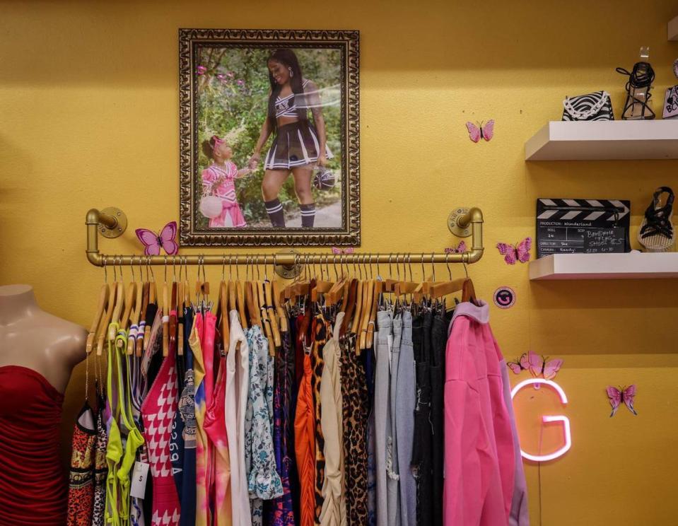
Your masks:
[[[537,257],[631,252],[631,201],[537,199]]]

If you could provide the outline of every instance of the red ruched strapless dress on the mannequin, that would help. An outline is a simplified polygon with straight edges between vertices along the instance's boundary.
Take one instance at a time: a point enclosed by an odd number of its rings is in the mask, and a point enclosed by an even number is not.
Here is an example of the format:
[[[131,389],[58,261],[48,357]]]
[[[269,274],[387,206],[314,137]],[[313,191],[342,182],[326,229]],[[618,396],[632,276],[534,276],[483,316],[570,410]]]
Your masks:
[[[59,462],[64,395],[33,369],[0,367],[0,525],[64,526]]]

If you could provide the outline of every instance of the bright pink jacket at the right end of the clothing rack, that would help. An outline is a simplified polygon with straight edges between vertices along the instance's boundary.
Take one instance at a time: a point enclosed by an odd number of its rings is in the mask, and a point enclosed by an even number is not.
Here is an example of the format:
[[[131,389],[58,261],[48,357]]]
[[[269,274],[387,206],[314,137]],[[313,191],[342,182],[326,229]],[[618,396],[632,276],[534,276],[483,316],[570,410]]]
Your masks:
[[[445,354],[445,526],[508,525],[515,454],[489,308],[460,303]]]

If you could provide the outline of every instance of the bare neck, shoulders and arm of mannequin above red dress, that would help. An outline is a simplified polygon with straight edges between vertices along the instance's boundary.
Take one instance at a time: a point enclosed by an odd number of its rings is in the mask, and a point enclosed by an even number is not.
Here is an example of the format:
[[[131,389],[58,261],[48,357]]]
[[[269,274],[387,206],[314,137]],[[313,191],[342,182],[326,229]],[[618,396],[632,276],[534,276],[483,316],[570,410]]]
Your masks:
[[[0,286],[0,367],[33,369],[63,393],[86,339],[83,327],[40,310],[30,285]]]

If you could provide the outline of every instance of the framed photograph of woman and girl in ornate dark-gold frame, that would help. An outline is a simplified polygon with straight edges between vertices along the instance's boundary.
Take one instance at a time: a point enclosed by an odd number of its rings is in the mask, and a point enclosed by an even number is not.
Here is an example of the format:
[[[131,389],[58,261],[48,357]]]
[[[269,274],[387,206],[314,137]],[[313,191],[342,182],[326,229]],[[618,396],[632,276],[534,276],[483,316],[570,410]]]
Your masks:
[[[358,36],[179,30],[181,245],[360,245]]]

